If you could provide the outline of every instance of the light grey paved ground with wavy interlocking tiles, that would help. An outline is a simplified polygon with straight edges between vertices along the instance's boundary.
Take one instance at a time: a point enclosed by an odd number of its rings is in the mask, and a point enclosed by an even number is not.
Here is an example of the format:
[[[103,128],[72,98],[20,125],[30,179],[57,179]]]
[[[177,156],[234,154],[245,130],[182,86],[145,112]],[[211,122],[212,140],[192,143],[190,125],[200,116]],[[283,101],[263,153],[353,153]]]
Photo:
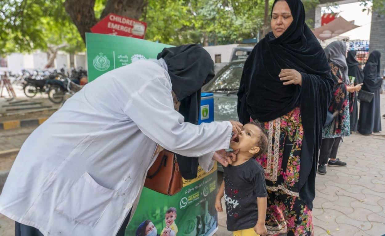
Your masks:
[[[381,96],[382,114],[385,96]],[[381,236],[385,234],[385,119],[382,135],[353,134],[344,139],[338,157],[346,167],[328,167],[316,178],[315,236]],[[0,132],[0,151],[20,148],[33,128]],[[223,202],[224,205],[224,202]],[[218,214],[216,236],[230,236],[226,214]],[[0,235],[13,236],[13,222],[0,215]]]

